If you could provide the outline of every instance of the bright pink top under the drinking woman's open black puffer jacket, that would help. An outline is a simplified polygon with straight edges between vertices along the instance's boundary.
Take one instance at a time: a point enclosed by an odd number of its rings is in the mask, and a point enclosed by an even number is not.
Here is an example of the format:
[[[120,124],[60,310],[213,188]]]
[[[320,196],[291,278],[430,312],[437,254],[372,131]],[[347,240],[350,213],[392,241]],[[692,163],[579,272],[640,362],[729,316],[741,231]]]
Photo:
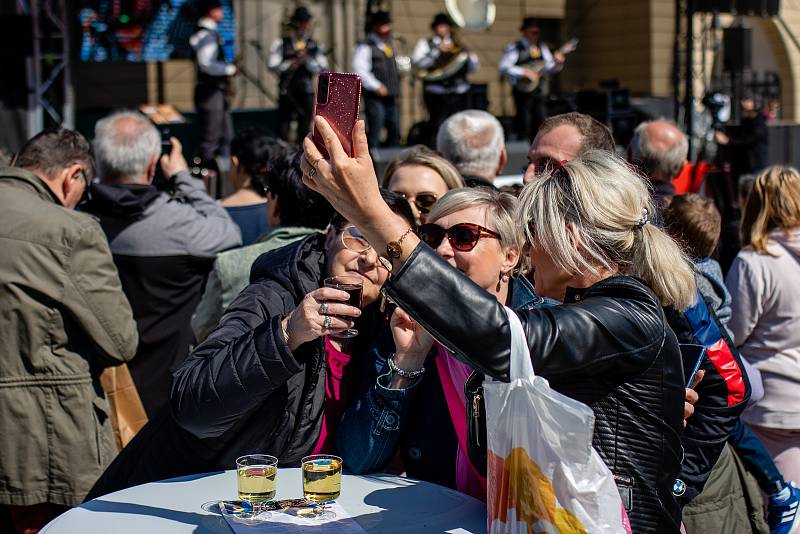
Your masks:
[[[322,411],[322,427],[312,454],[336,452],[336,427],[347,408],[348,388],[342,387],[343,378],[352,371],[350,355],[337,350],[325,336],[325,401]]]

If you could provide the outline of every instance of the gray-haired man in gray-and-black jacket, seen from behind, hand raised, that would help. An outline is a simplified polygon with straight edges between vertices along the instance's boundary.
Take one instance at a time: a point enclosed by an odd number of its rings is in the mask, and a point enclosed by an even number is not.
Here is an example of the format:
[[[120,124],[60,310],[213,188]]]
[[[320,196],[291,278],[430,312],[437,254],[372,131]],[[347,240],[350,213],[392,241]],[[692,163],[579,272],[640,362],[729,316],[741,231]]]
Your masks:
[[[194,342],[190,320],[218,252],[239,246],[239,228],[193,178],[181,152],[161,155],[161,135],[143,115],[121,111],[95,125],[99,183],[86,211],[100,219],[139,330],[130,364],[152,417],[169,399],[170,369]],[[174,193],[153,186],[156,166]]]

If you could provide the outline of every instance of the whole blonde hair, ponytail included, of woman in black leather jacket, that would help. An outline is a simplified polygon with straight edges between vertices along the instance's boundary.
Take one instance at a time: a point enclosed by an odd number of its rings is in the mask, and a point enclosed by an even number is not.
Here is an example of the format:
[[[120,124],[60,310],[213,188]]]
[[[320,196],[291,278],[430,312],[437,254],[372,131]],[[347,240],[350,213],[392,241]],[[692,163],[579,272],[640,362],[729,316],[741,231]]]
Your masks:
[[[654,213],[645,180],[617,156],[594,150],[525,186],[517,218],[526,241],[565,271],[619,270],[644,280],[662,305],[683,310],[695,299],[691,264],[665,232],[642,225],[644,209]]]

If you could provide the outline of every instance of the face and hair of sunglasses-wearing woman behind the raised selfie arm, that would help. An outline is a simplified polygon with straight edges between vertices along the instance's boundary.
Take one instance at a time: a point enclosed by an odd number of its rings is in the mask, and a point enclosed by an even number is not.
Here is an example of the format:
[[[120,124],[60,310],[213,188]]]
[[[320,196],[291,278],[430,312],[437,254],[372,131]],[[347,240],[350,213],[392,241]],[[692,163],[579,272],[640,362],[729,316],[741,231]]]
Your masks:
[[[452,163],[430,148],[416,145],[389,162],[381,187],[406,197],[419,226],[436,201],[451,189],[464,187],[464,180]]]

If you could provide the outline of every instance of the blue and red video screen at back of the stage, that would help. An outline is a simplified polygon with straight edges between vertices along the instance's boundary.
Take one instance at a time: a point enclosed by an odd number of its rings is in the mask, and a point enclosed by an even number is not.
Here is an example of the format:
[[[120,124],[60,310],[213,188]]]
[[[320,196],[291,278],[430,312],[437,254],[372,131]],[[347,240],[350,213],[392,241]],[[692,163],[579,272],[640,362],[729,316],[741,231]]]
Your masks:
[[[195,32],[202,0],[78,0],[80,59],[167,61],[192,57],[189,37]],[[225,40],[225,59],[236,55],[233,0],[222,0],[225,18],[218,31]]]

